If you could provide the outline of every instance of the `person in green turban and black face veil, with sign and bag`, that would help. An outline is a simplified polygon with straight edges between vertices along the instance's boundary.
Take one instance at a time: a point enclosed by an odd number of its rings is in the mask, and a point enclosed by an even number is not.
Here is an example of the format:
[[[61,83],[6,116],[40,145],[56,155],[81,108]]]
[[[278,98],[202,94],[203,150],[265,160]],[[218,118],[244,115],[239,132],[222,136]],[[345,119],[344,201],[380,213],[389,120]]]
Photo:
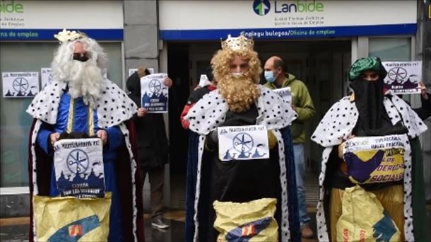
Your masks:
[[[312,140],[324,147],[319,241],[430,241],[419,135],[427,127],[384,90],[378,57],[349,71],[353,93],[329,109]]]

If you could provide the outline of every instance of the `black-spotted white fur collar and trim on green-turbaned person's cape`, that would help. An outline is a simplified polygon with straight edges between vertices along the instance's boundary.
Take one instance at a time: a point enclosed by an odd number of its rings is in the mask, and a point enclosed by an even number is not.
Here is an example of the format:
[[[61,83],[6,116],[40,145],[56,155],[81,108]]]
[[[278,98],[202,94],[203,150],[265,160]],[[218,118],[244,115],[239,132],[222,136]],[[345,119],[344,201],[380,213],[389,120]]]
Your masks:
[[[321,173],[319,175],[319,202],[317,204],[317,233],[319,241],[329,241],[328,229],[324,212],[324,180],[326,175],[326,164],[329,154],[334,147],[341,144],[350,137],[353,128],[358,122],[358,109],[353,101],[354,96],[346,96],[332,105],[329,111],[324,115],[319,125],[312,134],[312,141],[324,147],[321,160]],[[420,120],[418,115],[412,110],[410,105],[401,98],[386,93],[383,100],[386,113],[389,115],[391,122],[395,125],[402,120],[408,129],[408,134],[403,135],[404,146],[406,147],[405,172],[403,175],[404,189],[404,233],[406,241],[414,241],[413,236],[413,210],[412,210],[412,157],[411,145],[409,139],[418,137],[425,132],[426,125]]]

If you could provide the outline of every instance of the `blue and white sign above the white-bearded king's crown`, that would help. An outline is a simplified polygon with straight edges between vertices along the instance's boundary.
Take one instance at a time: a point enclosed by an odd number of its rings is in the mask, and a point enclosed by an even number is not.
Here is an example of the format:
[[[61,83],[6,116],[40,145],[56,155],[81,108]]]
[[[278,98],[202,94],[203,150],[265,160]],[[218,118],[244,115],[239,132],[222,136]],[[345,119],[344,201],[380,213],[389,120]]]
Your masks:
[[[64,28],[95,40],[123,40],[122,1],[1,0],[0,40],[51,40]],[[65,17],[67,16],[67,17]]]

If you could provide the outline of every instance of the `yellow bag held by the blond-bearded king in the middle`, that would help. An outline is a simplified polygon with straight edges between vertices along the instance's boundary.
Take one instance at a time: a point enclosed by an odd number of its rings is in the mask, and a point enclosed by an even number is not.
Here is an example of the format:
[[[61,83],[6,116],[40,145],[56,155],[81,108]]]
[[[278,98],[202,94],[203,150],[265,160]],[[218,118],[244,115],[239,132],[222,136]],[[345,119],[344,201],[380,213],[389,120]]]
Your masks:
[[[217,241],[278,241],[278,224],[274,219],[277,200],[262,198],[251,202],[213,203]]]

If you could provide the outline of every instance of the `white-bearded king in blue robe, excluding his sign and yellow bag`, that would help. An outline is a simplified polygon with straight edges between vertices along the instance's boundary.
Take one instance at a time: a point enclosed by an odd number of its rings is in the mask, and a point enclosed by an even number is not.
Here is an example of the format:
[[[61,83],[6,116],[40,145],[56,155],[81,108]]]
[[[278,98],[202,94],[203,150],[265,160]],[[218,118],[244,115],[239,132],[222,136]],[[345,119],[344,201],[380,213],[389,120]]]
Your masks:
[[[60,45],[52,62],[53,81],[27,110],[34,118],[29,149],[30,195],[59,196],[52,162],[54,142],[98,137],[103,144],[105,190],[112,192],[108,241],[142,241],[141,186],[131,149],[134,129],[129,122],[137,107],[104,77],[107,55],[98,42],[69,30],[54,37]],[[33,212],[30,241],[37,238]]]

